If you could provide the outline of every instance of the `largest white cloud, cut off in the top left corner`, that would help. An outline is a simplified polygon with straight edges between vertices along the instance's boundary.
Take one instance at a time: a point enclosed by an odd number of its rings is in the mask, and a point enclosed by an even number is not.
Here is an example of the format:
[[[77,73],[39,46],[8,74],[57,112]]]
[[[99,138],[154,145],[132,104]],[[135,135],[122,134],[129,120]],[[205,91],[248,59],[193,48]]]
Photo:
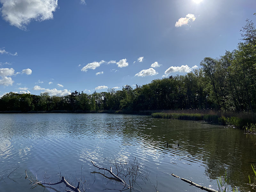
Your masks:
[[[26,29],[31,20],[43,21],[53,18],[58,0],[0,0],[4,20],[15,27]]]

